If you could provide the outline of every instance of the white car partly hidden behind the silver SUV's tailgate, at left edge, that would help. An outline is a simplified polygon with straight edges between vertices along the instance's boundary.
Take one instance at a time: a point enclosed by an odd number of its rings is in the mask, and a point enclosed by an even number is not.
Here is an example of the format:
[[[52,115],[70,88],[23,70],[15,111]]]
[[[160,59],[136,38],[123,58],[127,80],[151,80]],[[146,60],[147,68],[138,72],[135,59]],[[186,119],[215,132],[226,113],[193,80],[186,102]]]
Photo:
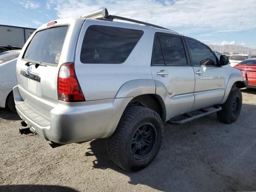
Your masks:
[[[0,54],[0,107],[16,112],[12,88],[16,80],[16,63],[20,50],[6,51]]]

